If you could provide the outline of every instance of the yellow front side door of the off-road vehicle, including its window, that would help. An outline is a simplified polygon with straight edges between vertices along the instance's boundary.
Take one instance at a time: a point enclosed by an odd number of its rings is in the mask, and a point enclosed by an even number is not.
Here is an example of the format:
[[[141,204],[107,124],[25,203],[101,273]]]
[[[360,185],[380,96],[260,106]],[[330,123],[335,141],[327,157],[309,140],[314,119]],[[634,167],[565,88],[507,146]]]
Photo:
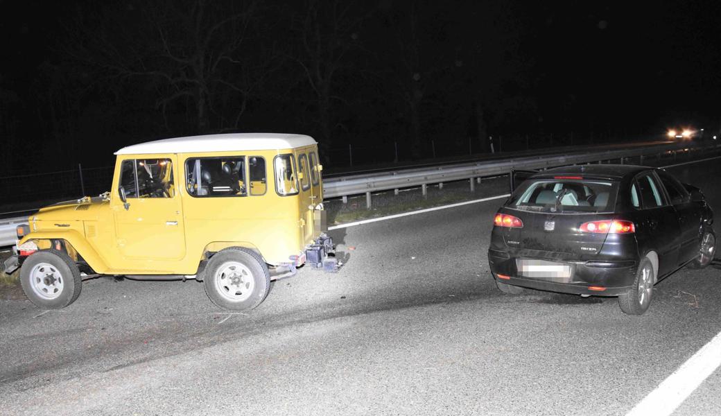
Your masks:
[[[185,256],[182,203],[174,183],[174,156],[121,161],[112,210],[115,238],[123,257],[172,260]],[[120,188],[123,188],[121,191]]]

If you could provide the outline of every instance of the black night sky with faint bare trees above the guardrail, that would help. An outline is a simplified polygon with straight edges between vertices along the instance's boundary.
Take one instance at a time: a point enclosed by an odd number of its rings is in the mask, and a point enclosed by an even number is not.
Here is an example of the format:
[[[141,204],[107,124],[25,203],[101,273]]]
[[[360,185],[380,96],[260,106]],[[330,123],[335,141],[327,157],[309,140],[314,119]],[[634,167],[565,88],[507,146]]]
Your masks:
[[[0,174],[234,131],[335,166],[718,132],[721,4],[643,3],[0,1]]]

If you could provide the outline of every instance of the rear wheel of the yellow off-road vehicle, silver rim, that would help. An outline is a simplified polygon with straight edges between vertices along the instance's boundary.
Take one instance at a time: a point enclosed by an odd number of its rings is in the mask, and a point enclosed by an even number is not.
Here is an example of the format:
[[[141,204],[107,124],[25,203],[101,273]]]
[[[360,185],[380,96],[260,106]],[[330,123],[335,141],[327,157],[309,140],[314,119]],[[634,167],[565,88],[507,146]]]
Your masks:
[[[260,305],[270,291],[270,272],[260,255],[243,247],[229,247],[208,260],[203,286],[213,304],[245,311]]]

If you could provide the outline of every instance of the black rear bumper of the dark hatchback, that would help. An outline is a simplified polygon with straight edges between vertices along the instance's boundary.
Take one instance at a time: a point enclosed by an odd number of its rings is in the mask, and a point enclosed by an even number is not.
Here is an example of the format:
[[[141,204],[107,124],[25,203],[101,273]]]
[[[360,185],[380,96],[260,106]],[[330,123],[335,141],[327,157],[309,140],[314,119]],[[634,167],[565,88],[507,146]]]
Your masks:
[[[633,286],[638,267],[636,260],[562,261],[563,264],[571,266],[572,275],[567,281],[559,282],[519,275],[516,259],[517,257],[508,253],[489,250],[488,261],[493,278],[513,286],[577,295],[622,295]],[[498,275],[503,275],[505,278],[499,278]]]

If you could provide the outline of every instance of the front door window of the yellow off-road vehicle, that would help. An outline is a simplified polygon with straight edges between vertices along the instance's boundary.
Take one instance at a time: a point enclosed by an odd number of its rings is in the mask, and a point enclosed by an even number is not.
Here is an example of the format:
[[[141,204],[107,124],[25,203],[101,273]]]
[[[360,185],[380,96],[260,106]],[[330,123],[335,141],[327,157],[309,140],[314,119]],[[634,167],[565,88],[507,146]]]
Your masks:
[[[133,159],[120,166],[125,198],[172,198],[175,195],[170,159]]]

